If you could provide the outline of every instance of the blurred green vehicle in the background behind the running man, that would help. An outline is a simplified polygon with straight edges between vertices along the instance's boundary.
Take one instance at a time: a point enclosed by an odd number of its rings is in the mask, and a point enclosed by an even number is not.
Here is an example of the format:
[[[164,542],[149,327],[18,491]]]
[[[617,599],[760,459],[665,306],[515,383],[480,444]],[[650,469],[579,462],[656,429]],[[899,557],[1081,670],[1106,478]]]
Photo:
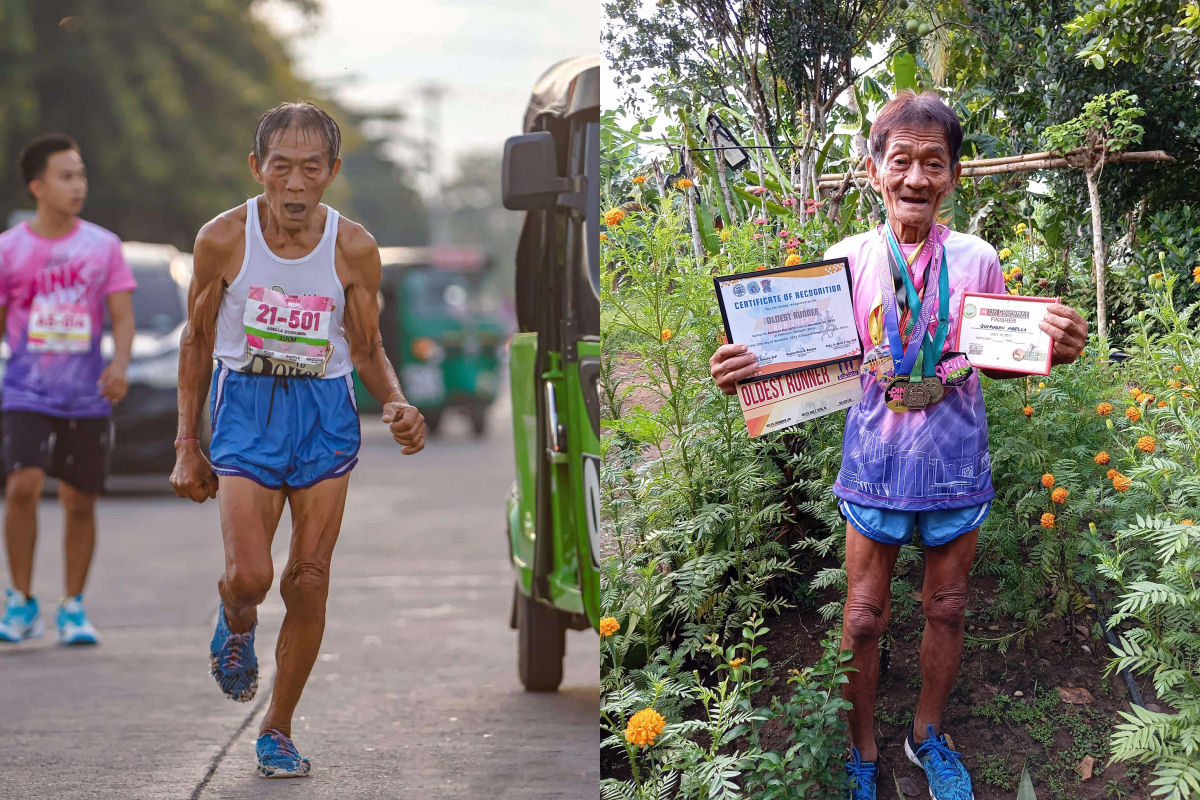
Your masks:
[[[504,323],[484,288],[490,263],[476,247],[380,247],[379,333],[404,395],[438,432],[461,411],[476,437],[499,386]],[[379,404],[355,375],[360,411]]]

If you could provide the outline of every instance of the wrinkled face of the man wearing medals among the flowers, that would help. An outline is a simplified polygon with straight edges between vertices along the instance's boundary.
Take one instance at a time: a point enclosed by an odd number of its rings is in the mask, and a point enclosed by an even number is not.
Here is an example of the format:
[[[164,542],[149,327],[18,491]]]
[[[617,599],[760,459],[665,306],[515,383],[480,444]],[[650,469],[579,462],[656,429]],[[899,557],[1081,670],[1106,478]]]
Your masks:
[[[926,127],[893,128],[881,163],[872,158],[866,162],[871,186],[883,196],[888,221],[898,231],[928,231],[961,172],[961,164],[950,167],[950,149],[942,131]]]

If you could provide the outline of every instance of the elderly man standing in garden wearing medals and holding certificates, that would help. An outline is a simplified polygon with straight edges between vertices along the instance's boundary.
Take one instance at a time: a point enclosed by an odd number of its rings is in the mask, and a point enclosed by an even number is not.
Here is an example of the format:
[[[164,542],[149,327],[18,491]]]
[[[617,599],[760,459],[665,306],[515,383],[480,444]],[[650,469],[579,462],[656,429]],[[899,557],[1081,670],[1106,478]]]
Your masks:
[[[912,540],[914,525],[925,547],[925,631],[920,698],[905,754],[925,770],[934,800],[973,796],[961,756],[941,726],[962,656],[967,576],[995,492],[979,378],[961,354],[950,353],[950,344],[958,338],[954,317],[962,293],[1003,294],[1004,281],[990,245],[935,224],[942,200],[958,184],[961,148],[959,120],[936,95],[900,92],[871,126],[866,162],[871,185],[883,196],[887,224],[838,242],[826,254],[850,261],[868,362],[890,359],[895,377],[882,375],[886,380],[907,383],[911,375],[925,384],[910,397],[910,408],[886,392],[884,381],[863,375],[863,398],[846,417],[833,487],[847,521],[841,645],[853,652],[854,668],[845,687],[853,706],[846,765],[852,800],[875,798],[878,640],[888,624],[896,554]],[[1054,339],[1054,363],[1079,357],[1087,323],[1075,311],[1050,305],[1042,329]],[[910,337],[913,330],[928,336]],[[906,361],[913,363],[901,375]],[[736,344],[719,348],[709,366],[726,393],[756,369],[754,355]]]

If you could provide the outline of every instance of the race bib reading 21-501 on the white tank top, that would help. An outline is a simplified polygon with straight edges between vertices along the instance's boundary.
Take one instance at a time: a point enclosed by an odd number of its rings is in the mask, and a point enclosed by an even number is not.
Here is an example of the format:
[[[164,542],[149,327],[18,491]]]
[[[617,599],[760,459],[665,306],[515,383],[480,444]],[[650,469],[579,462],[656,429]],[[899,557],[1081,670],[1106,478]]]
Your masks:
[[[329,324],[331,297],[286,295],[251,287],[246,296],[246,362],[242,372],[262,375],[325,374],[332,349]]]

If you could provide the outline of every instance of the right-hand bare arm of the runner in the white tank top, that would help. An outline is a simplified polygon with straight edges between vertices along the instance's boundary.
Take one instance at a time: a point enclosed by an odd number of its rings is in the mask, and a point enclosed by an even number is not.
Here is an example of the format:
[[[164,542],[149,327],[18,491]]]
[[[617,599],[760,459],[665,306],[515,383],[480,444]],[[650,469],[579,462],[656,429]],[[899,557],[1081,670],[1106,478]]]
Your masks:
[[[388,360],[379,332],[379,281],[383,266],[374,237],[362,225],[348,219],[340,223],[337,264],[346,287],[346,341],[350,360],[362,385],[383,405],[383,421],[391,438],[412,456],[425,447],[425,417],[409,404],[400,386],[396,369]]]

